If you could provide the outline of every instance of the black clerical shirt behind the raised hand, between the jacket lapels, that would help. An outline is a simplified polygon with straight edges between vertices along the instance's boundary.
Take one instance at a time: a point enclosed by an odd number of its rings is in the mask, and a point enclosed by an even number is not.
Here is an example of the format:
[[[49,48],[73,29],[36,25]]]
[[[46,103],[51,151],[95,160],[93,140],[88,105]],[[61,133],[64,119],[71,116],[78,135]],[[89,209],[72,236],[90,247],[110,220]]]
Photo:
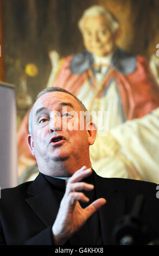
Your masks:
[[[60,206],[61,199],[65,194],[66,181],[63,179],[53,178],[44,174],[43,176],[51,185]],[[88,184],[94,185],[94,174],[92,173],[83,181],[87,182]],[[84,194],[86,195],[86,197],[90,198],[90,201],[88,203],[80,202],[82,208],[86,208],[94,200],[97,199],[95,190],[84,191]],[[101,237],[101,223],[98,211],[95,212],[90,218],[88,218],[86,223],[71,237],[71,239],[69,239],[67,244],[68,243],[70,245],[103,245]]]

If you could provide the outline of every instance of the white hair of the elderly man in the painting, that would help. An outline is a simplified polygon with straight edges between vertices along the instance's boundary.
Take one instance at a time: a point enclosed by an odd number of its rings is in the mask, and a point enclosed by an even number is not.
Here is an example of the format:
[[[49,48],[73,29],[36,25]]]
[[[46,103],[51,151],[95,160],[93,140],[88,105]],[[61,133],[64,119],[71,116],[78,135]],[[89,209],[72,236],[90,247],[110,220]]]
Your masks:
[[[119,28],[119,22],[109,10],[100,5],[93,5],[92,7],[84,11],[81,19],[78,22],[78,27],[80,31],[83,32],[84,20],[86,17],[94,17],[98,15],[106,17],[109,28],[111,29],[112,33],[115,33],[116,30]]]

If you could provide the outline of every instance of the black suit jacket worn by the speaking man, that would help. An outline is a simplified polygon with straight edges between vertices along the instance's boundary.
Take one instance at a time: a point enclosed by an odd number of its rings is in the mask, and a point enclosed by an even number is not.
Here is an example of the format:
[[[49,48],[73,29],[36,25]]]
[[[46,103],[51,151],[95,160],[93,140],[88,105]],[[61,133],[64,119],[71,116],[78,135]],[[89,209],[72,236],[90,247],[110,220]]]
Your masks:
[[[119,178],[101,178],[95,172],[97,198],[107,203],[99,209],[101,236],[110,245],[113,227],[120,216],[129,214],[136,196],[144,194],[142,220],[147,224],[147,241],[159,237],[159,199],[156,184]],[[53,245],[52,225],[59,203],[49,182],[40,173],[34,181],[2,190],[0,199],[1,245]],[[87,245],[87,237],[86,237]]]

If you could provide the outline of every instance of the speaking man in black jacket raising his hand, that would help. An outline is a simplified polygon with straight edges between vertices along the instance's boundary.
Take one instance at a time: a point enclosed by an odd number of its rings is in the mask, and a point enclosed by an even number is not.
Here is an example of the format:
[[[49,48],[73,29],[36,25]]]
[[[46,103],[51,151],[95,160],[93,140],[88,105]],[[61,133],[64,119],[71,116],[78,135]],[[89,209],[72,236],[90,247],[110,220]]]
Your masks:
[[[28,144],[40,174],[33,182],[2,191],[0,244],[109,245],[116,221],[131,212],[141,193],[141,218],[147,227],[139,230],[145,235],[141,241],[158,237],[156,185],[94,173],[89,147],[97,129],[84,111],[61,88],[39,94],[30,113]]]

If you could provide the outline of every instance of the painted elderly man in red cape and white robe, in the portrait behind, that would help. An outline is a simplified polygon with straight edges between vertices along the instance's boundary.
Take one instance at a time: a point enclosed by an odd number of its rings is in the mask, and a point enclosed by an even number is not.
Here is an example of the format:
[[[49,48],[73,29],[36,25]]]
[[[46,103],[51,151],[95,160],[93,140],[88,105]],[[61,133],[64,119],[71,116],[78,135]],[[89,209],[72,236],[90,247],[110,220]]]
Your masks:
[[[157,83],[143,57],[133,56],[116,46],[119,22],[105,8],[98,5],[88,8],[78,25],[86,50],[68,56],[52,84],[77,95],[89,111],[100,113],[102,127],[106,125],[104,114],[109,112],[110,132],[105,133],[106,137],[97,136],[100,145],[106,144],[101,147],[105,150],[103,156],[97,154],[96,145],[91,149],[96,172],[107,177],[144,179],[144,169],[138,172],[133,162],[136,154],[131,161],[122,153],[118,157],[120,144],[111,131],[126,120],[141,118],[159,106]],[[25,123],[21,126],[20,143],[26,127]],[[124,135],[126,138],[126,132]],[[125,139],[125,143],[129,141]]]

